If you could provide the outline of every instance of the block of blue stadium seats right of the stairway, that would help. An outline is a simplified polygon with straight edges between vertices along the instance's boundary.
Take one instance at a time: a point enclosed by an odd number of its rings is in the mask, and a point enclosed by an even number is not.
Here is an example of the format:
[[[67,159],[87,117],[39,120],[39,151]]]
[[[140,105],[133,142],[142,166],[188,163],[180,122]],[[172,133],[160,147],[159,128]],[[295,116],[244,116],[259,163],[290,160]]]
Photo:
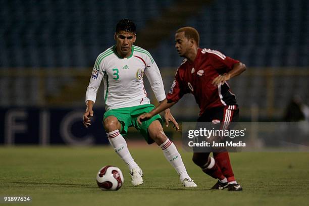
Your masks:
[[[309,65],[309,6],[305,0],[217,0],[184,25],[200,33],[201,47],[222,51],[250,67]],[[169,41],[173,41],[173,34]],[[165,41],[153,56],[177,56]],[[164,45],[168,45],[162,53]],[[162,66],[175,66],[166,60]]]

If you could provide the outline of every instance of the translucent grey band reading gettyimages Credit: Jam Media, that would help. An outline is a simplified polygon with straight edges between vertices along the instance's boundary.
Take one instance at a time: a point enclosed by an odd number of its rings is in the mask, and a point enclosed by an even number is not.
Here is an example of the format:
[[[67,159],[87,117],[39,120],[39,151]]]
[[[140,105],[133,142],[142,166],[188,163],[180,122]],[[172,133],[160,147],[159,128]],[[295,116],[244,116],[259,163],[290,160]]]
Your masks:
[[[183,123],[186,151],[309,151],[309,123]]]

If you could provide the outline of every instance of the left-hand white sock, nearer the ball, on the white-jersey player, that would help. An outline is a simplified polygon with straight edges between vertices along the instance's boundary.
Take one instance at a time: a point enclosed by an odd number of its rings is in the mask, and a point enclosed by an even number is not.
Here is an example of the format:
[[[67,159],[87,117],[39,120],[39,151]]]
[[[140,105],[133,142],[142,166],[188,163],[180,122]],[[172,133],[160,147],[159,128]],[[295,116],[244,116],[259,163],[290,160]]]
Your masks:
[[[115,130],[107,133],[111,145],[114,147],[116,153],[121,157],[121,159],[127,164],[129,170],[137,168],[138,165],[134,162],[130,151],[127,146],[126,140],[119,133],[119,130]]]

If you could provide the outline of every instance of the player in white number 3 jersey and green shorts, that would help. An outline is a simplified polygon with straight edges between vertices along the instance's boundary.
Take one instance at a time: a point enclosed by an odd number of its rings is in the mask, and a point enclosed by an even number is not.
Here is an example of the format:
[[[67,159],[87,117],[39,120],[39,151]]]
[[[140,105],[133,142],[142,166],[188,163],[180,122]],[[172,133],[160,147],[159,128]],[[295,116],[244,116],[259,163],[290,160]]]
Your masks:
[[[114,35],[116,45],[101,53],[94,64],[90,83],[86,91],[86,112],[84,125],[91,124],[92,107],[100,82],[104,80],[104,99],[106,113],[104,128],[116,153],[127,164],[132,176],[132,184],[143,183],[143,173],[133,160],[123,135],[129,127],[135,127],[148,144],[156,142],[163,150],[164,156],[177,171],[180,181],[185,187],[196,187],[189,177],[181,156],[174,143],[163,132],[163,121],[160,115],[137,123],[137,117],[150,112],[155,106],[150,104],[143,84],[143,74],[150,82],[158,101],[166,98],[159,68],[151,55],[141,47],[133,45],[136,40],[136,26],[129,19],[119,21]],[[165,111],[166,124],[172,121],[176,128],[178,124],[169,110]]]

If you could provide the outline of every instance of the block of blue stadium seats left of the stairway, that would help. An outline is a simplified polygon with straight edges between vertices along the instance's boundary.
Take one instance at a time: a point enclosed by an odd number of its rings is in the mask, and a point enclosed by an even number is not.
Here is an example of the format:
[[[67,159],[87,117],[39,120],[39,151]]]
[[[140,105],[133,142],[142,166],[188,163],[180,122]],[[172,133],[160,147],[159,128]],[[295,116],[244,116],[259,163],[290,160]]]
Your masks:
[[[0,67],[88,67],[124,17],[138,29],[172,1],[0,1]]]

